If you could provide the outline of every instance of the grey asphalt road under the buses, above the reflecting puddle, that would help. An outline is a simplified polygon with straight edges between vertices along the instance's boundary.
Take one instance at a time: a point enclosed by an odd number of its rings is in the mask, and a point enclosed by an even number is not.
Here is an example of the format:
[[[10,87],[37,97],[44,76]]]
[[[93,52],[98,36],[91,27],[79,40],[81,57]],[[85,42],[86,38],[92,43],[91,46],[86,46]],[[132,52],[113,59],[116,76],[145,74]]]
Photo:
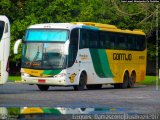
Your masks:
[[[72,87],[50,87],[39,91],[36,85],[7,83],[0,86],[0,107],[113,108],[131,113],[160,113],[160,90],[136,85],[132,89],[73,91]]]

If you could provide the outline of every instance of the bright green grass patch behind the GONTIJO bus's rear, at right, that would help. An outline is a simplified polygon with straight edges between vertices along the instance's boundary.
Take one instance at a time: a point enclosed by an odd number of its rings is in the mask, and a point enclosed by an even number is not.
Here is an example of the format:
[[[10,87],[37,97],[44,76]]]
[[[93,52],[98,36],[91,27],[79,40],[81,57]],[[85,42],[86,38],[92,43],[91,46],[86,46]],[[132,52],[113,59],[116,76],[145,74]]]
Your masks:
[[[146,76],[145,80],[142,82],[139,82],[138,84],[156,85],[156,76]],[[160,79],[158,80],[158,85],[160,85]]]

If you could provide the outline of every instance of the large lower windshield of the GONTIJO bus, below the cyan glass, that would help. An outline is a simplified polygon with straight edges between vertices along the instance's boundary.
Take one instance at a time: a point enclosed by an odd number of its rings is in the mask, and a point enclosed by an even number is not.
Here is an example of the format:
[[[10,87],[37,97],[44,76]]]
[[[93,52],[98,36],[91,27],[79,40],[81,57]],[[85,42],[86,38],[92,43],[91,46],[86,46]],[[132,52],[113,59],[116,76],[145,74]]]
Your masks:
[[[64,43],[24,43],[22,67],[33,69],[65,68]]]

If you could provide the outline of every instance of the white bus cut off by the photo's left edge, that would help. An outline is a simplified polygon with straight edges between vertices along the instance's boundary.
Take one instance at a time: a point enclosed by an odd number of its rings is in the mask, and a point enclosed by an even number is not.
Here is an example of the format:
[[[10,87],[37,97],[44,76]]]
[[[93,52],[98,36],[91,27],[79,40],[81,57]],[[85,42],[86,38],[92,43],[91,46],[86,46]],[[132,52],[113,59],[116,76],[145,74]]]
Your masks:
[[[6,16],[0,15],[0,84],[8,79],[10,52],[10,23]]]

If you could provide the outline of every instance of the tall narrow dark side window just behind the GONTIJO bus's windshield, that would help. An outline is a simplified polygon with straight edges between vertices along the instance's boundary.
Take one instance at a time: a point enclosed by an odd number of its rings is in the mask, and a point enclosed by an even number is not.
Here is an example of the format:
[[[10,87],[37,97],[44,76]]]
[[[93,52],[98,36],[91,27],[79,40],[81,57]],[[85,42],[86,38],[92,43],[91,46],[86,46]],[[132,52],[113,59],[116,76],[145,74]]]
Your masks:
[[[68,55],[68,67],[71,67],[74,64],[77,57],[78,38],[79,38],[78,33],[79,33],[79,29],[73,29],[71,31],[69,55]]]

